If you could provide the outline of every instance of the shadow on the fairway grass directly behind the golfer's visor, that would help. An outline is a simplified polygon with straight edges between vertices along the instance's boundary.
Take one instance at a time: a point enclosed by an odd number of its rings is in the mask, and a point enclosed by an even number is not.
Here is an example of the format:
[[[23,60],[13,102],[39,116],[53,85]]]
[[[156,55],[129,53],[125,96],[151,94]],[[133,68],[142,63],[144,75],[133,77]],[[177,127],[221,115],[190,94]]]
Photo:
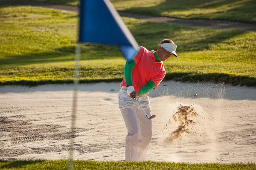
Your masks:
[[[168,28],[168,30],[166,28]],[[194,35],[191,35],[191,39],[182,41],[180,40],[180,38],[183,38],[182,31],[192,31]],[[137,42],[149,50],[157,50],[157,45],[163,39],[170,38],[174,40],[174,42],[178,40],[180,42],[177,44],[177,52],[209,50],[211,45],[216,45],[246,33],[246,31],[243,30],[222,30],[214,32],[212,30],[208,31],[207,29],[183,27],[168,23],[142,23],[134,26],[131,32],[137,39]],[[209,35],[209,33],[211,34]],[[200,40],[196,40],[198,36],[201,37]]]

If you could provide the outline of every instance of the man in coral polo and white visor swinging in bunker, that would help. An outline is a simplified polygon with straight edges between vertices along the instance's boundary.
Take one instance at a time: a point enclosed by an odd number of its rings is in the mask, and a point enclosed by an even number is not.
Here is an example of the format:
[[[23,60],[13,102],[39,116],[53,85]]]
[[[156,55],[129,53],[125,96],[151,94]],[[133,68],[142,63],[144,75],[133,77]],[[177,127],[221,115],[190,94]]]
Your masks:
[[[177,45],[165,39],[158,45],[157,51],[148,51],[139,47],[139,53],[124,67],[124,79],[118,94],[119,108],[122,113],[128,135],[125,139],[125,160],[143,161],[152,137],[152,120],[147,119],[134,97],[148,117],[151,116],[148,93],[156,89],[166,72],[163,62],[176,54]]]

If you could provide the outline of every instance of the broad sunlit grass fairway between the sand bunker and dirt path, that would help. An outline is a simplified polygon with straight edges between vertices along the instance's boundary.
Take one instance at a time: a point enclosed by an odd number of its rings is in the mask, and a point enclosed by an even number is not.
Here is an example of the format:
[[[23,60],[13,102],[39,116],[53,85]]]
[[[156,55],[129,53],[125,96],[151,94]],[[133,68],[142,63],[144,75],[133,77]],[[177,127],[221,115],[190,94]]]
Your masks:
[[[256,33],[190,28],[123,18],[141,46],[170,38],[179,57],[165,79],[256,85]],[[77,14],[39,7],[0,8],[0,85],[73,82]],[[116,47],[85,44],[80,81],[120,81],[125,59]]]

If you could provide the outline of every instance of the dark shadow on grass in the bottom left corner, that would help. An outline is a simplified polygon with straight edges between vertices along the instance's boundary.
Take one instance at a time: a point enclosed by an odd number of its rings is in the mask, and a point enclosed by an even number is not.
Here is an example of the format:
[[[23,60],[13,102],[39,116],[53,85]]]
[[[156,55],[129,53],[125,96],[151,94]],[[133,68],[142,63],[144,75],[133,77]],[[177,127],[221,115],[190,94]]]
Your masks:
[[[21,168],[25,165],[37,164],[37,163],[44,162],[44,160],[33,160],[33,161],[3,161],[3,160],[0,160],[0,162],[6,163],[5,165],[0,167],[0,169],[5,169],[5,168]]]

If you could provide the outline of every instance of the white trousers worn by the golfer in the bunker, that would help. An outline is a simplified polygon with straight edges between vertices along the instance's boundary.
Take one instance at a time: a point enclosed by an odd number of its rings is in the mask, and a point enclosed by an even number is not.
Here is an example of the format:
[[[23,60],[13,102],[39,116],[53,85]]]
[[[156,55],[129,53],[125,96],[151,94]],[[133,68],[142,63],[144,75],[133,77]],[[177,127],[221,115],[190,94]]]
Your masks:
[[[136,99],[150,117],[148,96],[138,96]],[[128,131],[125,139],[125,161],[143,161],[152,137],[152,120],[147,119],[137,102],[128,96],[126,87],[120,89],[118,101]]]

